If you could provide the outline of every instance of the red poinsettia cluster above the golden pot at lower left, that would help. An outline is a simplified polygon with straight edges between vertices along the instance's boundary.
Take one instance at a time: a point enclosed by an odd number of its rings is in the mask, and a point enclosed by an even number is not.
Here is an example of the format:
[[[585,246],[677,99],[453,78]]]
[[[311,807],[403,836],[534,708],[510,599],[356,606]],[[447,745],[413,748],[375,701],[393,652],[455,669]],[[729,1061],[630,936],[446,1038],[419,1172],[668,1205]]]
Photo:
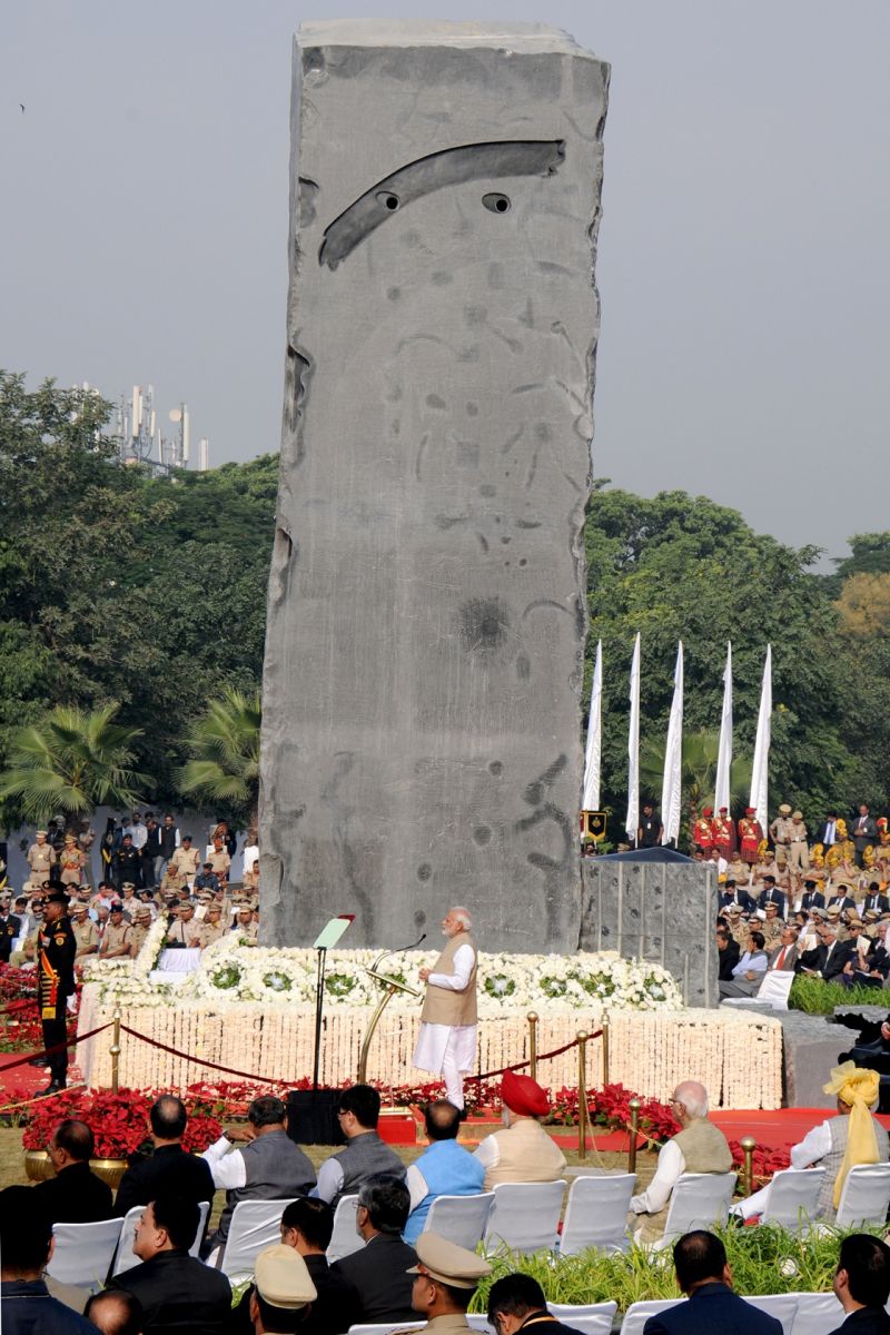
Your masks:
[[[157,1091],[149,1089],[65,1089],[48,1103],[37,1104],[31,1124],[21,1136],[25,1149],[45,1149],[55,1128],[65,1117],[77,1117],[92,1129],[96,1159],[128,1159],[151,1135],[148,1113]],[[223,1133],[219,1120],[185,1099],[188,1125],[183,1147],[200,1153]]]

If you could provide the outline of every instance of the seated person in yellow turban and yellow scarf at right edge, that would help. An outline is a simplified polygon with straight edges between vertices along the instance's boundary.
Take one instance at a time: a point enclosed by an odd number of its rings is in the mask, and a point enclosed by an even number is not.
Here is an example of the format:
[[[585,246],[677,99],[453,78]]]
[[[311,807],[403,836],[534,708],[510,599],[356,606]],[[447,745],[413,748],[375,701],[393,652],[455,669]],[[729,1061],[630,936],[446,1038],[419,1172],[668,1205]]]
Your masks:
[[[793,1168],[825,1168],[817,1215],[833,1219],[841,1191],[854,1164],[887,1163],[890,1139],[870,1108],[878,1101],[881,1081],[877,1071],[863,1071],[843,1061],[831,1072],[823,1089],[837,1097],[837,1116],[807,1131],[803,1140],[791,1145]],[[753,1196],[739,1200],[731,1212],[741,1219],[762,1215],[770,1199],[770,1184]]]

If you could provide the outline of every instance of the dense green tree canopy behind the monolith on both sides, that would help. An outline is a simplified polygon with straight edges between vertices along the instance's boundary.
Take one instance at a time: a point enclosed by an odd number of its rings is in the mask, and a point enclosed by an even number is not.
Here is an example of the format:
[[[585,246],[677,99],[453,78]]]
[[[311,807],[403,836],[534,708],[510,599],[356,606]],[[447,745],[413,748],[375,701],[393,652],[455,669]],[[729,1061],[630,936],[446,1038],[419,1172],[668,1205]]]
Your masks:
[[[172,804],[189,761],[213,760],[195,734],[212,702],[240,698],[251,713],[260,689],[278,457],[155,477],[119,462],[109,419],[111,405],[93,392],[49,380],[28,391],[24,376],[0,371],[0,770],[12,765],[20,729],[44,725],[56,706],[85,717],[119,704],[127,769],[148,776],[143,800]],[[854,535],[850,547],[822,575],[817,547],[758,534],[705,497],[646,499],[596,483],[586,522],[584,706],[602,638],[604,805],[623,817],[639,630],[650,768],[663,752],[678,639],[690,773],[707,761],[694,758],[693,738],[719,726],[727,639],[737,758],[750,764],[771,642],[773,805],[799,804],[810,820],[830,802],[886,809],[890,533]],[[213,814],[243,814],[255,797],[250,745],[232,754],[244,769],[240,780],[215,776]],[[224,810],[230,778],[247,788],[232,788]],[[7,797],[3,813],[21,818],[21,801]]]

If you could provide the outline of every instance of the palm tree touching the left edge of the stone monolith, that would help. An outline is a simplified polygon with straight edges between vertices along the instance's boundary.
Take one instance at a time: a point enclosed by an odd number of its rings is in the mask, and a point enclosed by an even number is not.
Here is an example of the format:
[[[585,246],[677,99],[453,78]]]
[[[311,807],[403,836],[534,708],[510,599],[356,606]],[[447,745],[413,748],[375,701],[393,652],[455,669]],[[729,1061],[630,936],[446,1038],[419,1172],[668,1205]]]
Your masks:
[[[256,824],[260,785],[259,692],[244,696],[226,688],[188,734],[192,758],[179,776],[183,793],[195,793],[248,826]]]

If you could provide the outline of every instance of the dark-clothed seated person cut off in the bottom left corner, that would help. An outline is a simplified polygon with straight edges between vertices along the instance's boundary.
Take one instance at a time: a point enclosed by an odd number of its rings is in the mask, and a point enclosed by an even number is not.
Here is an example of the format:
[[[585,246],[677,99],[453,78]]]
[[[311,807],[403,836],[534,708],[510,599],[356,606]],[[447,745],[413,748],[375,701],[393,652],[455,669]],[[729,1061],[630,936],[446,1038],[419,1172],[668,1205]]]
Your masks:
[[[49,1296],[52,1220],[29,1187],[0,1191],[0,1307],[5,1335],[96,1335],[96,1327]]]

